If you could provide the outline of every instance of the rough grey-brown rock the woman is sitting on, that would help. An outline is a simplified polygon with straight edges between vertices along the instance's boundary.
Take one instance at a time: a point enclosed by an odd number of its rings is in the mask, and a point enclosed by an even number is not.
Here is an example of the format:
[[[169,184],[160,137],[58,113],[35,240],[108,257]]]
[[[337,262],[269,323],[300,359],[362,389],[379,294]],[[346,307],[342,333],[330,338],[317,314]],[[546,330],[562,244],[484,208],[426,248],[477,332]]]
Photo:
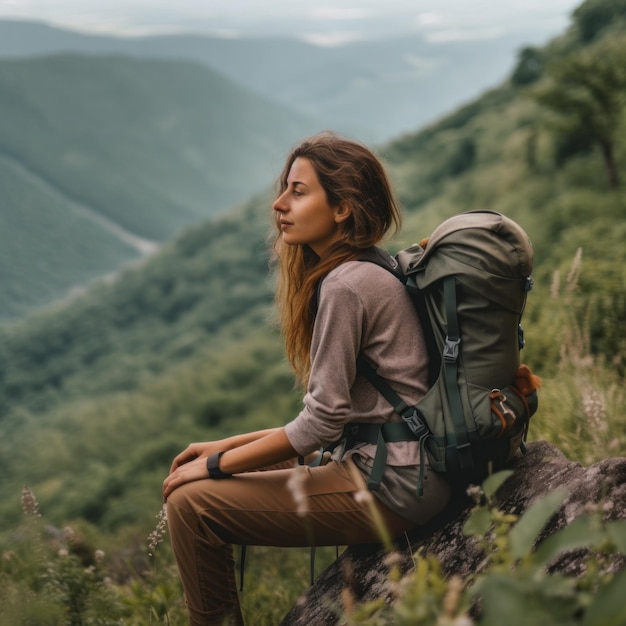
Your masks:
[[[542,538],[569,524],[589,503],[600,500],[607,503],[606,519],[626,518],[626,458],[606,459],[583,467],[565,458],[558,448],[540,441],[528,444],[527,454],[517,455],[511,469],[514,475],[497,493],[498,506],[503,511],[521,515],[533,502],[559,487],[570,494],[542,532]],[[404,546],[399,544],[404,548],[403,571],[409,571],[411,555],[419,549],[435,555],[448,576],[466,578],[477,572],[484,555],[474,540],[463,534],[472,506],[473,502],[465,498],[454,503],[440,519],[419,529],[411,537],[410,547],[408,541]],[[385,596],[385,556],[380,546],[348,547],[298,599],[281,626],[335,626],[338,620],[333,607],[341,606],[341,591],[347,585],[358,601]],[[621,565],[623,559],[618,564]],[[583,568],[580,552],[568,553],[552,566],[572,575],[580,574]]]

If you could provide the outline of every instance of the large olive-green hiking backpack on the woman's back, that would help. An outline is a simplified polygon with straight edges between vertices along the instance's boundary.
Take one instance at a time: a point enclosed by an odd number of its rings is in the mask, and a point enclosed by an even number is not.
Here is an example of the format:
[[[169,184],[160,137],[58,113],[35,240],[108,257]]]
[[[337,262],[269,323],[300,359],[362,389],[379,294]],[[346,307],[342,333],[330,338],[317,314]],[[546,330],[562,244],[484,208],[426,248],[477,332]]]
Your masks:
[[[452,482],[480,482],[519,448],[524,451],[529,420],[537,410],[541,381],[520,365],[520,322],[533,284],[531,242],[504,215],[472,211],[446,220],[428,240],[395,259],[396,268],[376,258],[362,260],[392,271],[411,294],[428,347],[430,388],[408,406],[359,359],[359,372],[403,419],[376,434],[378,458],[370,488],[380,485],[386,461],[386,446],[380,444],[406,440],[400,431],[407,427],[422,449],[418,494],[425,456],[433,471],[445,472]]]

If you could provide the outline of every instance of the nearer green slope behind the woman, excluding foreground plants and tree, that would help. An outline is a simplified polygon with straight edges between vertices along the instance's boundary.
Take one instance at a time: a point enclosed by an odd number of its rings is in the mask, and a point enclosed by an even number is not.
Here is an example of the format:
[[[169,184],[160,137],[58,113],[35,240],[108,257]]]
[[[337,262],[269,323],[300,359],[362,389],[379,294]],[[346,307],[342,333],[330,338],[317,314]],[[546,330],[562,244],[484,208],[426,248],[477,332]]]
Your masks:
[[[523,56],[506,85],[380,152],[406,208],[391,248],[475,208],[525,227],[536,259],[524,359],[545,382],[531,432],[586,459],[626,442],[626,182],[612,188],[594,137],[572,146],[571,125],[557,125],[538,99],[583,61],[592,69],[581,70],[580,89],[589,77],[601,84],[597,67],[619,77],[623,57],[610,50],[624,45],[623,21],[595,22],[587,37],[584,15]],[[529,80],[531,57],[541,63]],[[624,181],[626,83],[607,93],[618,96],[613,148]],[[593,99],[583,101],[588,111]],[[189,441],[295,414],[300,397],[271,325],[270,198],[188,229],[111,284],[0,328],[4,529],[19,519],[24,483],[54,523],[149,528],[171,457]],[[594,422],[585,390],[606,409]]]

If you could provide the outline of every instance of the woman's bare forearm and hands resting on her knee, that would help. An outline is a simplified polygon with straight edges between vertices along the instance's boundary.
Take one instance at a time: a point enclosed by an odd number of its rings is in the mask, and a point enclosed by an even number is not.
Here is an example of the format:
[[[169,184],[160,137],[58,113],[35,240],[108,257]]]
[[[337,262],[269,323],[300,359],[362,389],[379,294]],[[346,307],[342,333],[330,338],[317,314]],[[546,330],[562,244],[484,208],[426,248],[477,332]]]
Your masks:
[[[227,446],[232,444],[233,440],[239,445],[233,447],[219,445]],[[298,454],[289,443],[283,428],[256,431],[217,442],[191,444],[174,459],[172,470],[163,481],[163,498],[167,500],[169,494],[180,485],[208,478],[207,456],[224,450],[226,452],[220,458],[220,469],[227,474],[260,469],[286,461]]]

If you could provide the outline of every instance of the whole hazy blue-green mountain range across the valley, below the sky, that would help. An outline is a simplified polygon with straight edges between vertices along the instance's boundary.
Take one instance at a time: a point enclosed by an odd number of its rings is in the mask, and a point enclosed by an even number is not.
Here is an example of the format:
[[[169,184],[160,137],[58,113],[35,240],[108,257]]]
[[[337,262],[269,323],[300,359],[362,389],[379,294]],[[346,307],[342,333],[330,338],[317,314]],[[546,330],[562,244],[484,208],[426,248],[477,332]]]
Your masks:
[[[417,130],[502,81],[524,43],[321,47],[0,20],[0,321],[269,188],[303,136],[382,146]]]

